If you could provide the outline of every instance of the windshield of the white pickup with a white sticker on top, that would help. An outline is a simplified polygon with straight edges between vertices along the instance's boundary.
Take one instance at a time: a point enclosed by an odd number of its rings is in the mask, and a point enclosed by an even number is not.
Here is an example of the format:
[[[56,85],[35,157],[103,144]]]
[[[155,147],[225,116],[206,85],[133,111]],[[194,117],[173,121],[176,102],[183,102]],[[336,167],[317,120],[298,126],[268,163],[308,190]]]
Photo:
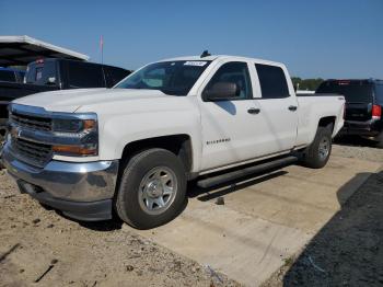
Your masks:
[[[160,90],[171,95],[187,95],[211,61],[162,61],[134,72],[117,89]]]

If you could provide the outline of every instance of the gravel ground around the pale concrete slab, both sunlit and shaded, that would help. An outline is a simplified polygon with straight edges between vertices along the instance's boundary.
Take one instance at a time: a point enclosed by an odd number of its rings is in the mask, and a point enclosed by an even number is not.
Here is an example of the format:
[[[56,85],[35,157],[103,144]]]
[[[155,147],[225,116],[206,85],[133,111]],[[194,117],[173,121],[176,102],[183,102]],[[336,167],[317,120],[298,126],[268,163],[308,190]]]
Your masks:
[[[335,156],[383,162],[383,150],[340,144]],[[382,206],[380,172],[265,286],[383,286]],[[240,286],[124,227],[42,208],[0,171],[0,286]]]

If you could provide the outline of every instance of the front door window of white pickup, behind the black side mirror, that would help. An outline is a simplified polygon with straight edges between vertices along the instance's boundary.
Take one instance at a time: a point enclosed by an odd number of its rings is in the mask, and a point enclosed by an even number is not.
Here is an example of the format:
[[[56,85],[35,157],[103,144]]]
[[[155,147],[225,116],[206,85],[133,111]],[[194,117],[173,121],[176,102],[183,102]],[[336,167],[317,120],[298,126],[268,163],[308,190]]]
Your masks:
[[[231,82],[239,89],[239,96],[233,100],[253,99],[252,83],[246,62],[231,61],[223,64],[211,78],[205,90],[210,90],[214,83]]]

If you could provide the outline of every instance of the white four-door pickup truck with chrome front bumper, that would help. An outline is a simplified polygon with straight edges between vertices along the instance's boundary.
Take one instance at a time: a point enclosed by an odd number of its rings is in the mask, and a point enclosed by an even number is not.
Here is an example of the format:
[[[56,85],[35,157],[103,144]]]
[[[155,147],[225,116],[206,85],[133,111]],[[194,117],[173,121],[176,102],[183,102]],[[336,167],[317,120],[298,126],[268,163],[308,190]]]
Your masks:
[[[291,162],[326,164],[345,99],[297,96],[282,64],[233,56],[144,66],[113,89],[13,102],[3,163],[21,192],[80,220],[147,229],[206,187]]]

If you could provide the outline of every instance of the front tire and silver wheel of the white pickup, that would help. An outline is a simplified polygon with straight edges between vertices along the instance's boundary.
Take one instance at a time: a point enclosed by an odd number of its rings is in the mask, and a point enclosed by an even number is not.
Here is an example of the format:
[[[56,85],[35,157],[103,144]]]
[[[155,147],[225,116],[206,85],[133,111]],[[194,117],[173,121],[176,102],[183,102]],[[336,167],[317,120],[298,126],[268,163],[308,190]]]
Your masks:
[[[115,198],[121,220],[138,229],[150,229],[181,213],[186,199],[186,174],[173,152],[148,149],[135,154],[123,168]]]

